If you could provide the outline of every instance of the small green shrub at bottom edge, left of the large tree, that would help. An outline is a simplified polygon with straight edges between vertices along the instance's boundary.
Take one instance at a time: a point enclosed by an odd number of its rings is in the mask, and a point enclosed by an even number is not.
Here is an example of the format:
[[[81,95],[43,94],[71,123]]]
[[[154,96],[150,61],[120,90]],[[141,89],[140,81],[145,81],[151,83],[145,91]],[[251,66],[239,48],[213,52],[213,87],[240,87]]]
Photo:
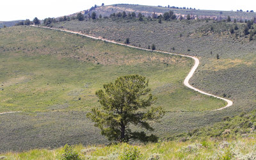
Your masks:
[[[79,157],[79,154],[76,152],[76,150],[74,150],[73,146],[66,144],[62,150],[60,159],[75,160],[81,158]]]

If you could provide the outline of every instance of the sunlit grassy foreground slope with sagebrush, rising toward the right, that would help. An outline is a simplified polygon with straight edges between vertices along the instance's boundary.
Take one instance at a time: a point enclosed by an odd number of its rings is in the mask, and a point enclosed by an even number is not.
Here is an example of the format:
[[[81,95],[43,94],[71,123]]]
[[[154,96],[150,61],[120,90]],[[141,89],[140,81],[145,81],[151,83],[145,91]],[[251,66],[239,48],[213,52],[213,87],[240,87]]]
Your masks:
[[[140,145],[76,145],[74,150],[85,159],[117,159],[135,154],[138,159],[255,159],[255,111],[205,127],[172,141]],[[133,152],[132,152],[133,151]],[[6,152],[5,159],[56,159],[63,148]]]

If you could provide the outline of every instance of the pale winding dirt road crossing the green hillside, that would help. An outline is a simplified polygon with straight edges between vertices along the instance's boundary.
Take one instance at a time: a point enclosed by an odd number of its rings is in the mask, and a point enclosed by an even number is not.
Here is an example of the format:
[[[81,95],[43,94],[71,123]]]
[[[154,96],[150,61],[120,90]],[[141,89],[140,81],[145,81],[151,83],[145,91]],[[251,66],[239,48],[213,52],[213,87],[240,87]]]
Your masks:
[[[126,45],[126,44],[121,44],[121,43],[118,43],[118,42],[115,42],[115,41],[112,41],[112,40],[106,40],[104,38],[100,38],[100,37],[95,37],[95,36],[90,36],[90,35],[84,35],[83,33],[79,33],[79,32],[75,32],[75,31],[68,31],[66,29],[56,29],[56,28],[48,28],[48,27],[44,27],[44,26],[35,26],[35,25],[31,25],[31,26],[34,26],[34,27],[39,27],[39,28],[47,28],[47,29],[55,29],[55,30],[58,30],[58,31],[65,31],[65,32],[68,32],[68,33],[74,33],[74,34],[78,34],[78,35],[83,35],[83,36],[87,36],[89,38],[93,38],[93,39],[96,39],[96,40],[104,40],[106,42],[111,42],[113,44],[119,44],[119,45],[125,45],[127,47],[132,47],[132,48],[136,48],[136,49],[142,49],[142,50],[145,50],[145,51],[152,51],[150,49],[143,49],[143,48],[140,48],[140,47],[134,47],[132,45]],[[193,86],[191,86],[189,84],[189,79],[191,79],[191,77],[193,76],[193,74],[195,73],[196,71],[196,68],[198,67],[199,65],[199,60],[198,58],[196,57],[193,57],[193,56],[187,56],[187,55],[184,55],[184,54],[176,54],[176,53],[171,53],[171,52],[163,52],[163,51],[154,51],[154,52],[162,52],[162,53],[166,53],[166,54],[172,54],[172,55],[177,55],[177,56],[183,56],[183,57],[188,57],[188,58],[192,58],[193,60],[195,60],[195,65],[191,68],[188,76],[185,78],[184,80],[184,85],[185,86],[188,86],[188,88],[191,88],[192,90],[195,90],[196,92],[199,92],[199,93],[202,93],[204,95],[209,95],[209,96],[212,96],[212,97],[216,97],[217,99],[221,99],[221,100],[225,100],[227,102],[227,105],[224,106],[223,108],[219,108],[219,109],[214,109],[214,111],[218,111],[218,110],[221,110],[221,109],[224,109],[224,108],[228,108],[230,106],[232,106],[233,102],[231,100],[228,100],[228,99],[224,99],[222,97],[218,97],[216,95],[212,95],[210,93],[206,93],[202,90],[199,90]]]

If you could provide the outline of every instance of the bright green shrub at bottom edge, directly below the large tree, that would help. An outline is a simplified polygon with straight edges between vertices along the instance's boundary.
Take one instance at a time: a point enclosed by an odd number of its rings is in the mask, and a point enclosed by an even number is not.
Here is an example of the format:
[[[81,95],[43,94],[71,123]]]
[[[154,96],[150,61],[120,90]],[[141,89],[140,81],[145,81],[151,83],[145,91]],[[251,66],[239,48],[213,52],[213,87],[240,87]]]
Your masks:
[[[120,153],[120,155],[118,156],[118,159],[140,159],[141,157],[141,153],[140,150],[138,149],[138,147],[136,146],[131,146],[127,143],[124,143],[122,145],[122,152]]]

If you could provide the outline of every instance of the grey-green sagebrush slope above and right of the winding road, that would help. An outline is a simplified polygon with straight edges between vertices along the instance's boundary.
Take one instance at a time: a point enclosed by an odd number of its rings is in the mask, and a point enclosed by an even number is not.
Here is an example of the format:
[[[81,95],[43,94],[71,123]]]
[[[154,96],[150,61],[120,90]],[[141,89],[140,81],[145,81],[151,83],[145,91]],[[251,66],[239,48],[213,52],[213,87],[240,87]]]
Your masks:
[[[237,25],[233,34],[230,28]],[[53,24],[116,42],[129,38],[132,45],[197,56],[200,66],[191,84],[207,92],[234,100],[227,112],[239,113],[255,108],[256,36],[244,36],[246,24],[215,20],[97,19],[71,20]],[[253,28],[256,28],[255,24]],[[220,59],[216,56],[219,54]]]

